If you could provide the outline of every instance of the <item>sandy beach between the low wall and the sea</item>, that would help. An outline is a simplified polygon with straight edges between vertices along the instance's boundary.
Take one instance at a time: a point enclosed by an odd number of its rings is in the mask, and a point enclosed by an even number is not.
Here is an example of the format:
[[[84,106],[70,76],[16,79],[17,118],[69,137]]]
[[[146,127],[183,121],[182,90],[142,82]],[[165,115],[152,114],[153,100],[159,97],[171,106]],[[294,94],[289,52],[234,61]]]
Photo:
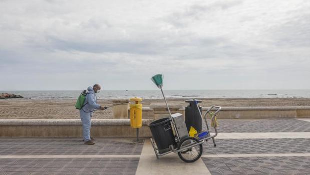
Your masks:
[[[310,98],[208,98],[201,99],[201,106],[310,106]],[[75,100],[1,99],[0,119],[80,118]],[[163,99],[144,99],[143,107]],[[169,104],[187,106],[185,99],[168,99]],[[112,105],[111,100],[99,100],[103,106]],[[112,108],[96,111],[94,118],[111,118]]]

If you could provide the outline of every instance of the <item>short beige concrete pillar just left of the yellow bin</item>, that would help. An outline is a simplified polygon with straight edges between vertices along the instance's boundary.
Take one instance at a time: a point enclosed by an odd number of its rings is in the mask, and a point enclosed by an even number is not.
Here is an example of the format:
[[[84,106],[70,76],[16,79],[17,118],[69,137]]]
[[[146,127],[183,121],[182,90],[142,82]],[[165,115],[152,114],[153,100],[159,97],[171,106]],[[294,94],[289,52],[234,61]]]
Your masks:
[[[128,118],[129,100],[128,99],[115,99],[112,100],[114,104],[121,105],[113,106],[113,118]]]

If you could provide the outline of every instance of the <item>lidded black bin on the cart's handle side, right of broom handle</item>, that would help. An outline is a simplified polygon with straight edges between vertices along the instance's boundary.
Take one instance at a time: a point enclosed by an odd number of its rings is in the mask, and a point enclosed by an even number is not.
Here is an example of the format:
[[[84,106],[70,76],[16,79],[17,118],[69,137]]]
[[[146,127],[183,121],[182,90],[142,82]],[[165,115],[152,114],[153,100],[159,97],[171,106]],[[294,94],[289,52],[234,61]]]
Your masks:
[[[185,107],[185,124],[186,128],[189,132],[189,129],[191,126],[193,126],[197,132],[201,132],[202,129],[202,119],[199,114],[197,105],[195,103],[200,103],[201,100],[196,100],[196,99],[191,99],[191,100],[186,100],[185,102],[189,103],[188,106]],[[202,108],[199,106],[199,110],[202,113]]]

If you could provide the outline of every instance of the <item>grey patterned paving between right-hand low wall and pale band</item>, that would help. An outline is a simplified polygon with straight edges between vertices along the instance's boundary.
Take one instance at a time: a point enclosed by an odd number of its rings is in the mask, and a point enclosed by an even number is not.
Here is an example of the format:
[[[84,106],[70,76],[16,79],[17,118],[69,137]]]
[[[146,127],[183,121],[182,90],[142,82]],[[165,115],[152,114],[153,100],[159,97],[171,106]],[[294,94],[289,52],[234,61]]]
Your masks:
[[[218,119],[218,132],[310,132],[310,122],[296,119]],[[202,124],[206,129],[205,123]],[[213,128],[210,129],[211,132]]]

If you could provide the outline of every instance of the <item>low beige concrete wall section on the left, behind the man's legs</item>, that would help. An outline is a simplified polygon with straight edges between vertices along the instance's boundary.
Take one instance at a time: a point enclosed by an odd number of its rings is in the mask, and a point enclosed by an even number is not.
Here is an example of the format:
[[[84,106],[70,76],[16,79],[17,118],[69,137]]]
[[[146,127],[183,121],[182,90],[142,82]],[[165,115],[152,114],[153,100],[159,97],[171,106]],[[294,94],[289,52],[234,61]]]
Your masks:
[[[143,119],[140,137],[151,132]],[[130,127],[129,119],[93,119],[91,135],[94,137],[135,137],[136,129]],[[2,119],[0,137],[82,137],[79,119]]]

